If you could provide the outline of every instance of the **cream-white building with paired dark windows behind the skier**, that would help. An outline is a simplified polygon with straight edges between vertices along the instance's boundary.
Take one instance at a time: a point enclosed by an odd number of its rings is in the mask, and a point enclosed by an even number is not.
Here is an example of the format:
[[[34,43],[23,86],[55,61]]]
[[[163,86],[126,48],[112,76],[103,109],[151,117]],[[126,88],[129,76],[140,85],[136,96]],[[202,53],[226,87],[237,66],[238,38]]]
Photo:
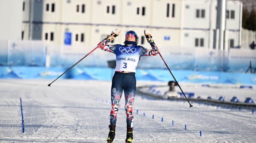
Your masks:
[[[242,2],[225,3],[228,50],[241,47]],[[113,44],[123,43],[124,34],[134,30],[139,45],[145,45],[148,29],[158,46],[219,49],[217,5],[218,0],[23,0],[22,39],[92,46],[118,28]]]

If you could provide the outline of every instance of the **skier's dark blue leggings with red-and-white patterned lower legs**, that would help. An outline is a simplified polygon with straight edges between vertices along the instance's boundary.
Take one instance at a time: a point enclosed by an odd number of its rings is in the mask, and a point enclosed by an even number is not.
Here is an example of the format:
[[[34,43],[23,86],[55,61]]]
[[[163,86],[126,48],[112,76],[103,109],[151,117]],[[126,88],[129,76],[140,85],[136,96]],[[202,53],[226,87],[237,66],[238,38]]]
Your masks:
[[[112,109],[110,112],[110,125],[116,125],[119,102],[124,91],[125,96],[125,111],[127,127],[133,127],[132,107],[136,92],[135,73],[119,73],[115,72],[112,79],[111,87],[111,103]]]

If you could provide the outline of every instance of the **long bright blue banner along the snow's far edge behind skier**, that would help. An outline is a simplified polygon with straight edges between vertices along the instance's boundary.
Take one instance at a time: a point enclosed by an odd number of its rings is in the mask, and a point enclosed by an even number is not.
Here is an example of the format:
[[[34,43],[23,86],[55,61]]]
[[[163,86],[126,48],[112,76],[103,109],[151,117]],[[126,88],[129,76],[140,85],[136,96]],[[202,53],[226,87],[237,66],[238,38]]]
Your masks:
[[[45,67],[0,67],[1,79],[56,79],[67,68]],[[106,80],[111,81],[114,70],[111,68],[77,68],[74,67],[60,79],[78,80]],[[232,84],[232,85],[256,85],[255,74],[203,72],[191,70],[172,70],[172,74],[178,82],[200,84]],[[137,69],[137,81],[174,81],[167,69]]]

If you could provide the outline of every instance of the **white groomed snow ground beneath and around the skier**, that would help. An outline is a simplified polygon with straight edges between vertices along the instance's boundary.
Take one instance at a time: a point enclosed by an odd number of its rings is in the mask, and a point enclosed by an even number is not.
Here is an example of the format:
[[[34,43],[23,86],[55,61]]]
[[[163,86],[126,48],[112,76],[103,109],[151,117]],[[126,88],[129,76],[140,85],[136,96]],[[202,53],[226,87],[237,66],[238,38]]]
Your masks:
[[[0,142],[106,143],[111,81],[60,79],[48,87],[50,82],[0,79]],[[166,84],[137,81],[137,86]],[[196,97],[237,96],[242,102],[246,97],[256,101],[256,90],[252,89],[180,85],[184,92],[195,92]],[[115,143],[124,143],[126,138],[124,97],[120,103]],[[137,95],[133,106],[134,143],[256,142],[256,113],[252,114],[252,109],[192,105],[189,108],[184,101]]]

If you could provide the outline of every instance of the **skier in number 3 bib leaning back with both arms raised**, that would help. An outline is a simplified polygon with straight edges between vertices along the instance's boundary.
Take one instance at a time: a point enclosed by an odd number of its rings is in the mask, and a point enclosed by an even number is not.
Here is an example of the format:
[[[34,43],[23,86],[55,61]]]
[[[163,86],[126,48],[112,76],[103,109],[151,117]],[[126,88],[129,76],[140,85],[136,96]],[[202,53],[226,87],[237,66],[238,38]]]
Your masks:
[[[112,109],[110,111],[110,132],[108,134],[107,142],[112,143],[115,137],[116,131],[116,118],[119,109],[119,101],[124,91],[125,96],[125,109],[127,115],[127,135],[126,143],[133,142],[133,113],[132,107],[135,99],[136,92],[136,67],[141,56],[156,56],[158,50],[149,40],[152,38],[152,33],[149,30],[144,30],[146,39],[151,45],[152,50],[149,50],[138,44],[138,35],[134,31],[128,31],[125,35],[124,45],[106,45],[108,42],[114,40],[120,33],[119,29],[115,29],[111,32],[113,35],[107,42],[105,42],[101,48],[104,51],[116,54],[116,69],[112,78],[111,86],[111,103]],[[105,38],[103,41],[105,41]]]

